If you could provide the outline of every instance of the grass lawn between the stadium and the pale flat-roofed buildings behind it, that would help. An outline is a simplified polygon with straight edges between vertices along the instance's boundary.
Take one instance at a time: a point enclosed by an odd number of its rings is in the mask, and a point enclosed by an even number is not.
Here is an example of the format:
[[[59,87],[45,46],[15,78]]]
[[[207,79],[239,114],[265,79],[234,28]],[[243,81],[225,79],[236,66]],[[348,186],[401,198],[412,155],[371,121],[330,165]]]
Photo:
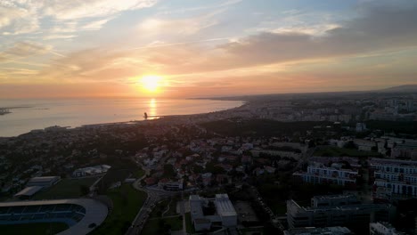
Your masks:
[[[81,195],[80,187],[85,185],[90,187],[98,178],[82,178],[82,179],[62,179],[50,189],[38,192],[34,199],[74,199]]]

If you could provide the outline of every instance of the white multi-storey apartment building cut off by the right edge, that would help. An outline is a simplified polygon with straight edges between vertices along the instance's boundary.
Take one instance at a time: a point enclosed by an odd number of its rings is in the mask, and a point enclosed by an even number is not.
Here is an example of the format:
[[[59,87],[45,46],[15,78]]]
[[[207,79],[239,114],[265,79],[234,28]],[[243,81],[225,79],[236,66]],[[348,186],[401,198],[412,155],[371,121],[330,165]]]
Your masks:
[[[370,166],[374,171],[373,197],[380,199],[376,192],[384,189],[387,197],[391,194],[417,196],[417,162],[410,160],[372,158]]]

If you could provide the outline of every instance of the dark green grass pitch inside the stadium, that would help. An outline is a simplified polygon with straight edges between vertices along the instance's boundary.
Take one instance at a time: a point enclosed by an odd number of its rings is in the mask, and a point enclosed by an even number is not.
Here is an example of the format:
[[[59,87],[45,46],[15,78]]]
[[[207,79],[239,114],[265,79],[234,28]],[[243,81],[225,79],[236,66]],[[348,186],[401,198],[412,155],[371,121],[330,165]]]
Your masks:
[[[25,223],[25,224],[2,224],[0,231],[2,235],[45,235],[56,234],[67,230],[66,223]]]

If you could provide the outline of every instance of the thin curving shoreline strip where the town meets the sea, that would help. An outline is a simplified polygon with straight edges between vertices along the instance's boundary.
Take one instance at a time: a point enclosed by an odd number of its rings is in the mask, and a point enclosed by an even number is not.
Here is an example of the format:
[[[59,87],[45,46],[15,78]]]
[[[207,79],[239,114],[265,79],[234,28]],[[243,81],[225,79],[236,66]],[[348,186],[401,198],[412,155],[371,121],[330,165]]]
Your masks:
[[[201,99],[184,99],[184,100],[207,100],[207,101],[231,101],[231,100],[226,100],[226,99],[222,99],[222,100],[218,100],[218,99],[206,99],[206,98],[201,98]],[[66,129],[66,130],[73,130],[73,129],[77,129],[77,128],[83,128],[83,127],[92,127],[92,126],[110,126],[110,125],[131,125],[131,124],[144,124],[145,121],[152,121],[152,122],[162,122],[162,121],[174,121],[174,119],[176,120],[180,120],[182,118],[199,118],[201,116],[205,116],[205,115],[210,115],[210,114],[217,114],[220,112],[226,112],[226,111],[231,111],[233,109],[241,109],[242,107],[246,106],[249,104],[249,101],[244,101],[244,100],[239,100],[241,101],[241,105],[233,107],[233,108],[229,108],[229,109],[221,109],[221,110],[217,110],[217,111],[210,111],[210,112],[205,112],[205,113],[194,113],[194,114],[174,114],[174,115],[154,115],[154,116],[149,116],[148,119],[142,119],[142,120],[127,120],[127,121],[117,121],[117,122],[104,122],[104,123],[94,123],[94,124],[86,124],[86,125],[80,125],[80,126],[45,126],[43,129],[32,129],[29,130],[26,133],[22,133],[22,134],[30,134],[30,133],[35,133],[35,132],[45,132],[47,128],[51,128],[51,127],[58,127],[58,128],[62,128],[62,129]],[[13,107],[13,109],[18,109],[18,108],[29,108],[29,107]],[[2,109],[2,108],[0,108]],[[10,109],[10,108],[7,108]],[[0,114],[1,115],[1,114]],[[12,136],[1,136],[1,139],[4,138],[17,138],[22,134],[17,134],[17,135],[12,135]]]

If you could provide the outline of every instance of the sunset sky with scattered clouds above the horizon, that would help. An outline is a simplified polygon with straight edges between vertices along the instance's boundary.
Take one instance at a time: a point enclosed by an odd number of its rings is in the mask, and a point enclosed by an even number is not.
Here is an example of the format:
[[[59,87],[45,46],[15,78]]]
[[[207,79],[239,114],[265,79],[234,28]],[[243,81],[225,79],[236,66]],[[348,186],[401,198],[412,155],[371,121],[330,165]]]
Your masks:
[[[2,99],[372,90],[416,61],[415,0],[0,1]]]

